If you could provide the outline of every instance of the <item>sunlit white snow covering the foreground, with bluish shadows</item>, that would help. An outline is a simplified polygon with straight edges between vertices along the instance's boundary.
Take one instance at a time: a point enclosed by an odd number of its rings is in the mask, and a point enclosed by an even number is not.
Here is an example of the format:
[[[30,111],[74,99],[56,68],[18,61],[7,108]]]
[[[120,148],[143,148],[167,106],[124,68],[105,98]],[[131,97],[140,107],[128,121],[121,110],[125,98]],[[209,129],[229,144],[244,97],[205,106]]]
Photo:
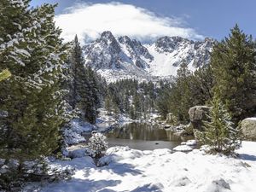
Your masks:
[[[53,166],[73,166],[73,178],[51,183],[39,191],[255,192],[255,148],[256,143],[243,142],[237,151],[238,159],[204,154],[199,149],[186,154],[169,149],[109,148],[101,161],[108,166],[96,167],[90,157],[56,161]]]

